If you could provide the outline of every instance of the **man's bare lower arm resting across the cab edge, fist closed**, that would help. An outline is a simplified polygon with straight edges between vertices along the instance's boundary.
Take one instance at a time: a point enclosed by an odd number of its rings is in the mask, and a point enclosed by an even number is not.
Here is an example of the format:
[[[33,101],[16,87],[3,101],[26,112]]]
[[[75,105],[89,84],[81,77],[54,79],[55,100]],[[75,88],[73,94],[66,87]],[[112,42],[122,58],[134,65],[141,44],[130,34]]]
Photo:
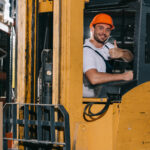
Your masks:
[[[90,69],[85,72],[86,77],[92,85],[102,84],[112,81],[125,80],[129,81],[133,79],[133,72],[125,72],[122,74],[110,74],[104,72],[98,72],[96,69]]]

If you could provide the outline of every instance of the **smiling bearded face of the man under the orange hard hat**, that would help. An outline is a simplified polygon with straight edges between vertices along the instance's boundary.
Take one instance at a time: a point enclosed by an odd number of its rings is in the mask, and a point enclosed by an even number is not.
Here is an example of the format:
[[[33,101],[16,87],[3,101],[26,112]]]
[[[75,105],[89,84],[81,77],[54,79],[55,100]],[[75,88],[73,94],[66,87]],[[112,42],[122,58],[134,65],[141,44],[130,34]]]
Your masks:
[[[92,31],[94,39],[97,42],[104,44],[110,36],[111,26],[108,24],[96,24]]]

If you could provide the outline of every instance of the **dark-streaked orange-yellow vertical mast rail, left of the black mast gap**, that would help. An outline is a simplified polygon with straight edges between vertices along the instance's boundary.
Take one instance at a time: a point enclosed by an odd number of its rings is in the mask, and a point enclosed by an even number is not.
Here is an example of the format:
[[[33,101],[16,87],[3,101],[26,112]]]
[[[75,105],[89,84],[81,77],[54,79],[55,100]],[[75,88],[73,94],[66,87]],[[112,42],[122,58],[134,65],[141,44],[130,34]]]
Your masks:
[[[36,93],[36,88],[35,88],[36,87],[36,30],[37,30],[36,29],[36,7],[37,7],[36,0],[26,1],[26,9],[27,9],[27,13],[26,13],[26,20],[27,20],[26,21],[26,72],[25,72],[26,73],[26,85],[25,85],[25,102],[26,103],[31,103],[31,98],[33,100],[32,102],[35,102],[35,93]],[[33,28],[33,25],[34,25],[34,28]],[[33,97],[32,97],[32,94],[33,94]]]

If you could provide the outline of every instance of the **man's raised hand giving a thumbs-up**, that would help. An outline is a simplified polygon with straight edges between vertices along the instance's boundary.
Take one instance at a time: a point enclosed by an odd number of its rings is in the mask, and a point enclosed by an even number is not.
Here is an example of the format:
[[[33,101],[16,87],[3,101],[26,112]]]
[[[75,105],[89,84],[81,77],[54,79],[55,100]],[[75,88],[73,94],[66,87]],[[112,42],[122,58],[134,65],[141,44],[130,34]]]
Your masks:
[[[122,49],[118,48],[116,40],[114,41],[114,48],[109,50],[109,54],[111,59],[122,58],[123,51]]]

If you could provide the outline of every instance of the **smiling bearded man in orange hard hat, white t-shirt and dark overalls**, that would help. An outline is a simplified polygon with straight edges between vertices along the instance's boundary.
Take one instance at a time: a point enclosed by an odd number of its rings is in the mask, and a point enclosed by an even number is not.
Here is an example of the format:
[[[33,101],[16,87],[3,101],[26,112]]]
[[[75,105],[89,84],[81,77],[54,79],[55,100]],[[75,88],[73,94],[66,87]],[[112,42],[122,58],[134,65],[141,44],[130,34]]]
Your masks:
[[[122,58],[127,62],[133,59],[130,51],[117,47],[116,41],[114,45],[107,42],[114,28],[111,16],[105,13],[96,15],[90,24],[91,38],[85,41],[83,52],[84,81],[85,78],[88,80],[83,85],[84,97],[94,97],[94,89],[91,88],[91,85],[133,79],[132,71],[120,74],[112,74],[107,71],[109,58]]]

